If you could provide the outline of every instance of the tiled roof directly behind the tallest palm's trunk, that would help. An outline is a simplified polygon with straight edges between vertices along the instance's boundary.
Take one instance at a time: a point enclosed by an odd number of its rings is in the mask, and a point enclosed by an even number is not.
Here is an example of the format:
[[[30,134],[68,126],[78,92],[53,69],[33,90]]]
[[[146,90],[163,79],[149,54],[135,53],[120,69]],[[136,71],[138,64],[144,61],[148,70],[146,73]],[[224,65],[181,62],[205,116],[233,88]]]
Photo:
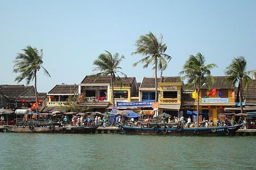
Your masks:
[[[180,76],[163,76],[158,78],[158,83],[181,83]],[[155,88],[155,78],[144,77],[141,88]]]

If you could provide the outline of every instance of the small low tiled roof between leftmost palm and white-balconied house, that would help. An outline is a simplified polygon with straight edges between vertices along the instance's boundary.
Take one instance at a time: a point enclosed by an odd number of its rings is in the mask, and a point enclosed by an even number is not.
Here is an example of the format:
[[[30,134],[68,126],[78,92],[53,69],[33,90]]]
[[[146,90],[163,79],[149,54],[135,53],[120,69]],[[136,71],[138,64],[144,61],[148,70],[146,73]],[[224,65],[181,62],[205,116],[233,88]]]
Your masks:
[[[56,85],[52,88],[51,91],[48,92],[47,95],[73,95],[75,92],[78,92],[78,85],[72,84],[72,85]]]

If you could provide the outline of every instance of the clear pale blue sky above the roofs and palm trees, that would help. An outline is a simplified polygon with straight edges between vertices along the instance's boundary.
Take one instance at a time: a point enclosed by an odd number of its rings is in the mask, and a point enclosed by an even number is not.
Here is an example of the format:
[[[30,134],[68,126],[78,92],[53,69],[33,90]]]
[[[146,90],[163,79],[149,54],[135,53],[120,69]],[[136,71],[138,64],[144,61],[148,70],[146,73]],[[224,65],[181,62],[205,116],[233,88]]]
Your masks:
[[[13,61],[31,45],[43,49],[43,66],[51,74],[39,71],[39,92],[80,83],[104,50],[123,54],[122,71],[137,82],[154,76],[151,67],[133,67],[141,56],[131,56],[135,41],[150,31],[162,33],[172,56],[164,76],[177,76],[198,52],[207,64],[217,64],[214,76],[224,75],[238,56],[245,56],[247,70],[256,69],[256,1],[2,0],[0,22],[0,84],[17,84]]]

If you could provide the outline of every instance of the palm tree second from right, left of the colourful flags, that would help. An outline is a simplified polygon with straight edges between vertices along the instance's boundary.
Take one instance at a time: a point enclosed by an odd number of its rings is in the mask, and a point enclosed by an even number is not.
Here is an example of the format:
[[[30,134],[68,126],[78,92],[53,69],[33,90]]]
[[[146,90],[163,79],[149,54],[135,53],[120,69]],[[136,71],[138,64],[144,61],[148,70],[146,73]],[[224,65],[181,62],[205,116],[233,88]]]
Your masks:
[[[217,67],[216,64],[210,63],[205,65],[205,58],[201,53],[196,56],[190,55],[188,60],[183,65],[183,71],[180,74],[185,74],[183,79],[188,79],[187,87],[196,87],[197,89],[197,119],[196,126],[199,126],[199,92],[203,84],[209,87],[209,81],[214,81],[213,76],[210,75],[210,69]]]

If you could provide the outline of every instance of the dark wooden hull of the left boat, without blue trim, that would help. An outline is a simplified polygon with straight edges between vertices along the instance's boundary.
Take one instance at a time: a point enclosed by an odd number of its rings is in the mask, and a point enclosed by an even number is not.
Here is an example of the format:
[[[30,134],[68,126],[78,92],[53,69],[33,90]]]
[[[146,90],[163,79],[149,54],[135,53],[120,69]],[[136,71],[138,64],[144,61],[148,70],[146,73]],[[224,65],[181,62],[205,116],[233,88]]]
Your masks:
[[[22,126],[6,126],[10,132],[17,133],[95,133],[98,126],[75,126],[75,127],[22,127]]]

